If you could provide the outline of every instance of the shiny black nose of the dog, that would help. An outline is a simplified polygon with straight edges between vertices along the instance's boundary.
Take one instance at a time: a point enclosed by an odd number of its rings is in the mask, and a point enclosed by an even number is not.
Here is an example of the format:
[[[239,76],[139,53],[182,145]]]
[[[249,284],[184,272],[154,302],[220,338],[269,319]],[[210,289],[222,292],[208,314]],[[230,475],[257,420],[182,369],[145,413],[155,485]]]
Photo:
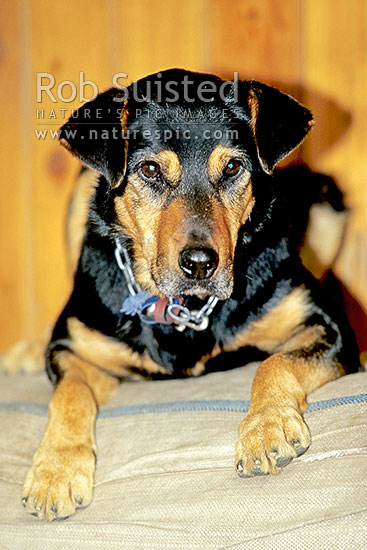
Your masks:
[[[186,248],[178,263],[189,279],[209,279],[217,269],[218,254],[211,248]]]

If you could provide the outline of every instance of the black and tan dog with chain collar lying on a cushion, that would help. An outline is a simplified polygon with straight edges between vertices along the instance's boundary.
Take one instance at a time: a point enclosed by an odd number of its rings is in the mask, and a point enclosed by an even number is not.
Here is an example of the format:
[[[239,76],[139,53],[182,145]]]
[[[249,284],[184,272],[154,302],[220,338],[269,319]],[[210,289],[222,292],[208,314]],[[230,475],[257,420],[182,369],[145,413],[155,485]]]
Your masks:
[[[46,353],[56,390],[24,484],[30,513],[53,520],[91,502],[98,406],[129,378],[229,369],[256,349],[239,476],[276,474],[309,447],[307,394],[358,366],[272,174],[311,126],[259,82],[170,70],[100,94],[61,129],[100,177]]]

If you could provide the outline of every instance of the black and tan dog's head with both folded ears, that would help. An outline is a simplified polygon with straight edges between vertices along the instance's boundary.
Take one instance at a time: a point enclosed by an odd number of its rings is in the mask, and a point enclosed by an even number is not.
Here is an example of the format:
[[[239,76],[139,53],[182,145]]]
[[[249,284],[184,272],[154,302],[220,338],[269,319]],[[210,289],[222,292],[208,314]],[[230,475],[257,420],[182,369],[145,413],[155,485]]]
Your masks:
[[[226,299],[254,177],[311,125],[307,109],[265,84],[173,69],[100,94],[60,139],[108,180],[114,230],[132,244],[143,289]]]

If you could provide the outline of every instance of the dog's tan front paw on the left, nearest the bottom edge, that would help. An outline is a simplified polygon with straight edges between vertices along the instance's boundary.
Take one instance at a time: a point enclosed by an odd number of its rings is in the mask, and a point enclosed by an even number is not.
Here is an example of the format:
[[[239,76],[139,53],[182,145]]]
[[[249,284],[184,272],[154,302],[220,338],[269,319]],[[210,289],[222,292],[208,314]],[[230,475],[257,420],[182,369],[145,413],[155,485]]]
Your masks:
[[[41,519],[65,519],[90,504],[94,470],[95,453],[89,446],[41,445],[24,482],[22,503]]]

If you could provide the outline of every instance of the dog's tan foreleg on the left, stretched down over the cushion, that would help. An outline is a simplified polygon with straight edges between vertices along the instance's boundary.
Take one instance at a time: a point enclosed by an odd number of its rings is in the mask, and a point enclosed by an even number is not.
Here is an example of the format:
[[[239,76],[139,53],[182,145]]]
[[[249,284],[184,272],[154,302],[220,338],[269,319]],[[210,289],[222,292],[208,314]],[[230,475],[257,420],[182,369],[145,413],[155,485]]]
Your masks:
[[[64,372],[49,405],[46,433],[28,472],[22,502],[52,521],[90,504],[97,447],[95,420],[118,381],[71,352],[57,355]]]

